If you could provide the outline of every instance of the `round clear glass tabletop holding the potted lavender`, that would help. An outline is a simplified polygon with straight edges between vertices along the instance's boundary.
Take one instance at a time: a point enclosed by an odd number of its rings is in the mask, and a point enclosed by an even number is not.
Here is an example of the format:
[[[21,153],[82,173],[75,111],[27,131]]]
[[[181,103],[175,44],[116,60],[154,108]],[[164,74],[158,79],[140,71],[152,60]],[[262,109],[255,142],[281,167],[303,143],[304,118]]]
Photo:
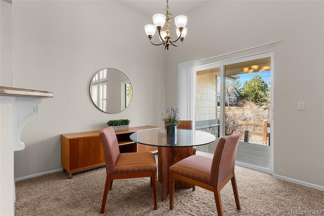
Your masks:
[[[178,129],[177,135],[171,136],[167,135],[167,130],[156,128],[132,133],[130,139],[148,146],[190,147],[206,145],[215,141],[216,137],[204,131],[186,129]]]

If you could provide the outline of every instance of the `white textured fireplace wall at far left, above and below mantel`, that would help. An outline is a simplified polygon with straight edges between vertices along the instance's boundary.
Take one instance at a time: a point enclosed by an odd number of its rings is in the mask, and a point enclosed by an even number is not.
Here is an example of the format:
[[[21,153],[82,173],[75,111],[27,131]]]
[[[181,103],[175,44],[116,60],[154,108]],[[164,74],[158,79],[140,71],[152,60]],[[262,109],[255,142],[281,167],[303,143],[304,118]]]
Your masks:
[[[13,78],[12,4],[0,1],[0,85]],[[0,215],[14,215],[13,104],[0,104]]]

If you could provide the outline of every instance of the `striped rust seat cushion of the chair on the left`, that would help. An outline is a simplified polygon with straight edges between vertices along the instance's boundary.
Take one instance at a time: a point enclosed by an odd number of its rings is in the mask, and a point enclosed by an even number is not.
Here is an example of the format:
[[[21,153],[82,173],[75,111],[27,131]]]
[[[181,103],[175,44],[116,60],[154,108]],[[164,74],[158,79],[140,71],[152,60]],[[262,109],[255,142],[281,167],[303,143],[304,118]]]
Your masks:
[[[156,172],[157,166],[153,153],[121,153],[119,154],[115,167],[114,174],[129,174],[129,173],[143,173]]]

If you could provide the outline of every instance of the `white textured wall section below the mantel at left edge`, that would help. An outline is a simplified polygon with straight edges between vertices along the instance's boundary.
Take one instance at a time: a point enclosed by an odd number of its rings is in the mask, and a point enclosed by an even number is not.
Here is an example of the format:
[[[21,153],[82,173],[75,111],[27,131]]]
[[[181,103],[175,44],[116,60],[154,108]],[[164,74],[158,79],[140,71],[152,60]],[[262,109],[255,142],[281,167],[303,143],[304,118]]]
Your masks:
[[[0,103],[0,215],[14,215],[13,104]]]

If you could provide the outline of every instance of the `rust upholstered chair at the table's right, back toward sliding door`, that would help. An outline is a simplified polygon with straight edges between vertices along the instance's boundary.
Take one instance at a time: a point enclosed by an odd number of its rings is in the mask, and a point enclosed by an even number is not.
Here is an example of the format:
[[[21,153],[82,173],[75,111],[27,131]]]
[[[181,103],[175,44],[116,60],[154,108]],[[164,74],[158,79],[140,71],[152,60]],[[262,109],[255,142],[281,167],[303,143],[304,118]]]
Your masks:
[[[170,209],[173,209],[175,178],[213,191],[219,216],[223,215],[220,191],[231,180],[236,208],[240,209],[234,173],[239,137],[239,131],[221,137],[217,142],[213,158],[192,155],[170,166]]]

